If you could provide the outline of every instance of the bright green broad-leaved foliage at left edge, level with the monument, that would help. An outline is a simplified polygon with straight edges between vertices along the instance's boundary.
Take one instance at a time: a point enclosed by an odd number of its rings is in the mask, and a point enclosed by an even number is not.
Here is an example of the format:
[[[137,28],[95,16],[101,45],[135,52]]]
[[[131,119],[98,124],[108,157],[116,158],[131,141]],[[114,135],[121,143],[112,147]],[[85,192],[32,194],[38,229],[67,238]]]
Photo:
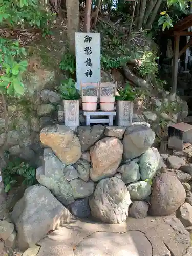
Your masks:
[[[19,96],[24,94],[22,74],[27,70],[28,62],[23,60],[26,49],[18,41],[0,38],[0,93]]]

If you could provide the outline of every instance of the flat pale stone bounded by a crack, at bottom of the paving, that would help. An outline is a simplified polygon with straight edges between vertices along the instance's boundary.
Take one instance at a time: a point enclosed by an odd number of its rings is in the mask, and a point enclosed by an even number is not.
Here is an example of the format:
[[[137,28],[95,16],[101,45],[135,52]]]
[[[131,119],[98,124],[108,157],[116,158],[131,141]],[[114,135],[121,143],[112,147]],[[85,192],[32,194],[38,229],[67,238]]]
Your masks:
[[[152,245],[140,231],[96,232],[82,239],[73,253],[74,256],[152,256]]]

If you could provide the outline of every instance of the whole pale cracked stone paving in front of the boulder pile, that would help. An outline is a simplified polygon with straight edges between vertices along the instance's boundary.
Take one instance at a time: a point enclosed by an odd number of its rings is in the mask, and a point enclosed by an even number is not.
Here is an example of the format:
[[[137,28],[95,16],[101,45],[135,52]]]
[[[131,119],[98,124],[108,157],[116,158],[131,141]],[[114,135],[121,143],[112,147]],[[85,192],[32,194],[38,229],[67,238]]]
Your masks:
[[[173,215],[128,218],[122,224],[73,219],[42,239],[39,245],[37,256],[190,256],[186,254],[189,232]]]

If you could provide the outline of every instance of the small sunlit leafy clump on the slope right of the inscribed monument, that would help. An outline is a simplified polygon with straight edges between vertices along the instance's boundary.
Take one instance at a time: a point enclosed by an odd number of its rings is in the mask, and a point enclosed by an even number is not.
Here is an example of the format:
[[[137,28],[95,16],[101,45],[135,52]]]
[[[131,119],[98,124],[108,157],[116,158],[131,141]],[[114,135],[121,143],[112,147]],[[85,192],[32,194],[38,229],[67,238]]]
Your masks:
[[[151,74],[157,75],[158,65],[156,63],[156,55],[153,52],[145,52],[141,58],[142,64],[137,66],[137,70],[142,77],[148,77]]]

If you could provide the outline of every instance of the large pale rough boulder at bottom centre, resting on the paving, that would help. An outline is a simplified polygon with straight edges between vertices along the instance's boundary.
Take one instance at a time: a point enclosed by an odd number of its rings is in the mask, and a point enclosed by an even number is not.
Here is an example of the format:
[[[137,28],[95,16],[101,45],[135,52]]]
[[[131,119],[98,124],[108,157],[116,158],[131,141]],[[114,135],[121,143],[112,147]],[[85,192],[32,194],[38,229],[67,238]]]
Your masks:
[[[130,194],[117,177],[99,181],[90,200],[92,216],[107,223],[121,223],[128,216]]]

